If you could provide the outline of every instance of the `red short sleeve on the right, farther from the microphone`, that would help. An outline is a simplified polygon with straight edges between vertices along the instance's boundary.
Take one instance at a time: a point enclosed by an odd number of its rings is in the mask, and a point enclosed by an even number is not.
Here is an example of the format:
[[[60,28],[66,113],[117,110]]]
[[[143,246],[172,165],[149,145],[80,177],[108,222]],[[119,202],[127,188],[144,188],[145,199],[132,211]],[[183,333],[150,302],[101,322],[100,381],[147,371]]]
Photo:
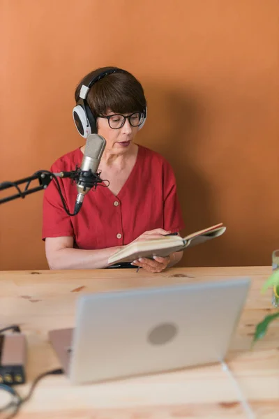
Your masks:
[[[176,191],[176,179],[172,166],[165,161],[163,167],[164,189],[164,229],[172,233],[183,230],[185,227],[179,198]]]

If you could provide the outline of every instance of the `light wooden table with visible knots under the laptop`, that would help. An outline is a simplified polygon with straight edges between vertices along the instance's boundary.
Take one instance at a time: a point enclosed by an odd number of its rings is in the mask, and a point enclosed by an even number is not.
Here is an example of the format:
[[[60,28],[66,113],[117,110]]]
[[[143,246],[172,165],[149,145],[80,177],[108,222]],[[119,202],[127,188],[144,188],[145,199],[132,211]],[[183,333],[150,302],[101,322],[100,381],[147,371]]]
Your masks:
[[[271,267],[172,268],[162,274],[135,270],[0,272],[1,326],[20,324],[28,340],[28,383],[59,367],[47,331],[73,327],[81,293],[120,288],[210,281],[248,275],[252,286],[227,356],[255,418],[279,418],[279,322],[251,351],[257,324],[271,309],[271,293],[260,294]],[[4,395],[0,395],[1,398]],[[2,400],[3,401],[3,400]],[[221,365],[195,367],[98,385],[71,385],[65,376],[40,381],[19,419],[248,418],[239,392]],[[0,416],[1,418],[1,416]]]

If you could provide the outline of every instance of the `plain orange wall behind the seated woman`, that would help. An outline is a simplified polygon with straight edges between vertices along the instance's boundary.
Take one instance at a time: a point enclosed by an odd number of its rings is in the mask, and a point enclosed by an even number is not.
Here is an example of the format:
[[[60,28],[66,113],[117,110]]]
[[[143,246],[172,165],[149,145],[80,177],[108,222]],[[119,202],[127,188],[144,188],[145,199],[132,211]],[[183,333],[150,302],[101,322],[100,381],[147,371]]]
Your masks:
[[[144,85],[142,145],[176,172],[184,233],[223,221],[181,265],[268,265],[279,247],[277,0],[2,0],[3,180],[83,144],[73,92],[98,66]],[[11,191],[11,190],[10,190]],[[3,196],[3,193],[1,193]],[[47,268],[43,192],[1,205],[2,270]]]

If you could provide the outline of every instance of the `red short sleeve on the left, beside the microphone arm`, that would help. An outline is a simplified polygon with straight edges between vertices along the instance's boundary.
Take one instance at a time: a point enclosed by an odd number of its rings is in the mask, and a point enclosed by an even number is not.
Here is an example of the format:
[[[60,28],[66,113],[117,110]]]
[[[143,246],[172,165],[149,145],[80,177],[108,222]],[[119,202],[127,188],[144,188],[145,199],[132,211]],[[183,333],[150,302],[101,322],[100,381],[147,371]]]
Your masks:
[[[52,172],[58,172],[54,166]],[[68,179],[65,179],[68,180]],[[66,200],[63,182],[58,179],[61,186],[61,193]],[[43,197],[43,240],[46,237],[74,236],[73,225],[70,216],[66,213],[57,184],[54,180],[45,189]]]

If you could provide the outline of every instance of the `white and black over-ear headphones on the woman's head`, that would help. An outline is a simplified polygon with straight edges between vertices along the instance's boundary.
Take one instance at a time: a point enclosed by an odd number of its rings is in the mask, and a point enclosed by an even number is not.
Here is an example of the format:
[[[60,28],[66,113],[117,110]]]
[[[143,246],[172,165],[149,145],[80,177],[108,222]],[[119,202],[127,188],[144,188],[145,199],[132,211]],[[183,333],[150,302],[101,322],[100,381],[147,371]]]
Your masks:
[[[128,73],[128,71],[121,70],[120,68],[110,68],[110,70],[104,71],[99,75],[95,76],[94,78],[90,78],[89,76],[85,78],[83,81],[82,87],[80,89],[80,98],[77,101],[77,105],[73,108],[73,119],[75,122],[75,126],[77,127],[77,131],[82,135],[83,138],[87,138],[90,134],[97,133],[97,122],[93,113],[86,101],[86,96],[89,92],[89,89],[93,86],[94,83],[98,82],[98,80],[104,78],[106,75],[113,74],[113,73]],[[139,129],[141,129],[146,121],[147,116],[147,108],[144,109],[144,120],[142,124],[140,124]]]

